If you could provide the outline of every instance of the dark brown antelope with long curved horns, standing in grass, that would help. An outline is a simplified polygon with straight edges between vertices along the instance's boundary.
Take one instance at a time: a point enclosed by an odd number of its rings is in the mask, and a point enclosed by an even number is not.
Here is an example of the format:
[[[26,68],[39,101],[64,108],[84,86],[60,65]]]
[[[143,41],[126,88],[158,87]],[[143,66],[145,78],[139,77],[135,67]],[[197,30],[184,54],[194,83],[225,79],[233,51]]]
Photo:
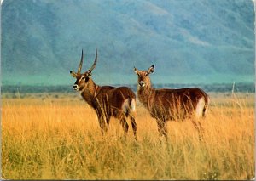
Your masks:
[[[129,125],[126,119],[131,119],[131,126],[135,139],[137,139],[137,124],[135,122],[136,95],[131,88],[112,86],[99,86],[91,78],[92,71],[96,67],[96,57],[88,71],[80,73],[83,65],[84,53],[82,50],[78,72],[70,71],[71,76],[76,78],[73,89],[80,92],[82,98],[96,111],[102,134],[108,131],[111,117],[117,118],[121,123],[125,135]],[[106,125],[107,124],[107,125]]]

